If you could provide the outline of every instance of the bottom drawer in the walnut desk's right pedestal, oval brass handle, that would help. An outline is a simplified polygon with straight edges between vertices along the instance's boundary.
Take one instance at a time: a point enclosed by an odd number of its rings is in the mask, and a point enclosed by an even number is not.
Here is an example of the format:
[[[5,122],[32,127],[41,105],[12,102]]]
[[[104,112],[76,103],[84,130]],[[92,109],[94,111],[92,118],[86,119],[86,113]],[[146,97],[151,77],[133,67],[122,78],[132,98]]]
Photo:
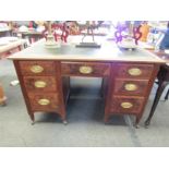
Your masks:
[[[144,97],[113,96],[110,113],[141,113]]]

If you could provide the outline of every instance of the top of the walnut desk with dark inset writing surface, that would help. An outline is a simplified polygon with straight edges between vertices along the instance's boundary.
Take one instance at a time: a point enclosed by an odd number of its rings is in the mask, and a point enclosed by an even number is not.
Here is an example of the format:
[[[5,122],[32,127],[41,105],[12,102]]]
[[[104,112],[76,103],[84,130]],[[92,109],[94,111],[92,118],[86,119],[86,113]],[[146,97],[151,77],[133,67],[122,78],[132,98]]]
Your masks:
[[[31,47],[10,56],[12,60],[68,60],[68,61],[129,61],[155,62],[165,61],[156,55],[137,48],[135,50],[120,50],[113,41],[105,41],[101,48],[77,48],[74,44],[65,44],[60,48],[49,49],[41,39]]]

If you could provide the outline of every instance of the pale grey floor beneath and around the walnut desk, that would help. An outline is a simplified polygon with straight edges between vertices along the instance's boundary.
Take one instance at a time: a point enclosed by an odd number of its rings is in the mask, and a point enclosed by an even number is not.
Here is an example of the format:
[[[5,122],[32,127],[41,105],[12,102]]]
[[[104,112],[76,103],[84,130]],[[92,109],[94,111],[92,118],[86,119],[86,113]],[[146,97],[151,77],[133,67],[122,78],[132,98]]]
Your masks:
[[[157,86],[148,99],[141,128],[133,128],[133,117],[113,116],[104,124],[104,105],[100,98],[100,79],[71,80],[71,98],[68,105],[69,124],[63,125],[55,113],[36,113],[31,124],[12,61],[0,60],[0,82],[8,105],[0,107],[1,147],[144,147],[169,146],[169,100],[164,96],[148,129],[144,128]],[[167,88],[166,88],[167,90]],[[166,92],[165,90],[165,92]],[[164,94],[165,95],[165,94]]]

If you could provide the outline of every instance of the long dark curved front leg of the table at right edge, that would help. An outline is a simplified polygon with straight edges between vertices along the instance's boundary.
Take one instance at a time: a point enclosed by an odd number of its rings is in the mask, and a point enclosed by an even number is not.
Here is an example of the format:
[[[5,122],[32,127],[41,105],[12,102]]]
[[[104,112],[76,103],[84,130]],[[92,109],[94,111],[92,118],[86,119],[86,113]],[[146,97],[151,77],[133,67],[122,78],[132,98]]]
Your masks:
[[[167,86],[167,84],[168,84],[168,82],[166,82],[166,81],[165,82],[159,82],[159,86],[158,86],[158,89],[156,92],[156,96],[155,96],[155,100],[153,102],[153,107],[150,109],[150,112],[149,112],[149,116],[148,116],[147,120],[145,121],[145,126],[148,126],[149,125],[150,120],[152,120],[152,118],[154,116],[154,112],[156,110],[156,107],[158,105],[158,101],[160,99],[160,96],[161,96],[165,87]]]

